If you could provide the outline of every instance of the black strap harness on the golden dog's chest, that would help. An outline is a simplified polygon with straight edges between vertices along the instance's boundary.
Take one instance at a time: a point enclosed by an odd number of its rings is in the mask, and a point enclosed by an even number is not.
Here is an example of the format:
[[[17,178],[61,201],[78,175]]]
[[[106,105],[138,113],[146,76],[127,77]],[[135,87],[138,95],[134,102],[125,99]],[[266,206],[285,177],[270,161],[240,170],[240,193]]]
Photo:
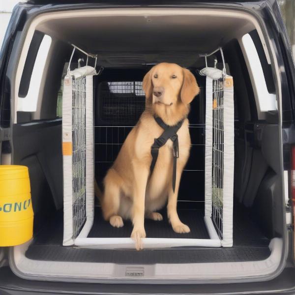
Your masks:
[[[152,174],[158,154],[159,154],[159,148],[163,147],[168,139],[171,139],[173,142],[173,176],[172,176],[172,187],[173,187],[173,192],[175,192],[175,183],[176,183],[176,163],[177,163],[177,158],[179,157],[179,146],[178,146],[178,136],[177,136],[177,131],[181,127],[183,120],[179,121],[176,125],[174,126],[169,126],[163,122],[163,120],[159,117],[154,117],[156,122],[164,129],[164,132],[161,134],[160,137],[155,138],[155,141],[153,145],[151,146],[151,156],[152,156],[152,161],[150,165],[150,174]]]

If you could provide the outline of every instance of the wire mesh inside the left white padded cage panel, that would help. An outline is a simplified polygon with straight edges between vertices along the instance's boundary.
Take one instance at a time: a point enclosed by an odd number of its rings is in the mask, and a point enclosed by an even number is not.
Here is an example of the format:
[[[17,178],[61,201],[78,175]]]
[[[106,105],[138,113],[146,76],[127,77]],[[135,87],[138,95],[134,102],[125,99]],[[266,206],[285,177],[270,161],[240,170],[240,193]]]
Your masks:
[[[72,79],[73,237],[86,221],[86,77]]]

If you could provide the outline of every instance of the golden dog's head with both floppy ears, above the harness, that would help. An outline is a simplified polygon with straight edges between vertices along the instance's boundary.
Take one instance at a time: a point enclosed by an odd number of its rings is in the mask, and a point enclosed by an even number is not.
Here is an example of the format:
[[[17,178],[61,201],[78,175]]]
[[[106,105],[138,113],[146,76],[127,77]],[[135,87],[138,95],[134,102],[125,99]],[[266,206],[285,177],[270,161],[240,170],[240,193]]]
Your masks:
[[[143,80],[143,89],[146,105],[151,106],[154,113],[168,124],[187,115],[189,103],[200,91],[196,78],[189,70],[166,62],[149,70]],[[169,116],[175,117],[176,113],[179,116],[170,120]]]

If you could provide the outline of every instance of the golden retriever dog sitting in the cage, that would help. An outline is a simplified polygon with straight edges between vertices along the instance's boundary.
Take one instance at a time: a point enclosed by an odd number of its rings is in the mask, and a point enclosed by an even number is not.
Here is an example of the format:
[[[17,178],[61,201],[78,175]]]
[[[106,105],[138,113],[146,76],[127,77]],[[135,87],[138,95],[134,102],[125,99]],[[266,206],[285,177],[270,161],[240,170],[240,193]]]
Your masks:
[[[118,157],[104,178],[104,194],[95,182],[95,194],[100,199],[103,217],[114,227],[122,227],[123,219],[131,219],[137,250],[142,249],[146,237],[145,217],[162,220],[157,210],[166,202],[169,222],[176,233],[189,233],[177,214],[177,194],[182,170],[189,157],[191,146],[187,115],[190,102],[199,93],[194,75],[175,63],[153,66],[143,80],[146,108],[138,123],[128,134]],[[155,117],[174,126],[183,120],[177,131],[179,157],[177,158],[175,191],[172,185],[173,142],[168,140],[159,148],[152,173],[151,146],[161,136],[163,129]]]

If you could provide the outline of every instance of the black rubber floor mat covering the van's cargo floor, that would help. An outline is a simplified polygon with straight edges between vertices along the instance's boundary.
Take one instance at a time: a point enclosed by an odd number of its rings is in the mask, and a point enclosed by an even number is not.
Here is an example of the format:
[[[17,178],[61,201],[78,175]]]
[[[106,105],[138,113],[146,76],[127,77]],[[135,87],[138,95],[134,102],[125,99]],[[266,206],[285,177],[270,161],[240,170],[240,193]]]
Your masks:
[[[170,249],[87,249],[63,247],[62,211],[39,231],[26,257],[41,261],[93,262],[117,264],[155,264],[155,263],[209,263],[264,260],[270,255],[267,239],[257,225],[243,210],[234,214],[234,246],[232,248],[170,248]],[[190,226],[191,233],[175,234],[165,214],[163,221],[146,220],[148,237],[186,237],[208,238],[203,221],[202,210],[179,210],[180,219]],[[124,227],[114,229],[102,220],[100,208],[95,208],[95,220],[89,233],[91,237],[129,237],[131,222],[124,221]]]

